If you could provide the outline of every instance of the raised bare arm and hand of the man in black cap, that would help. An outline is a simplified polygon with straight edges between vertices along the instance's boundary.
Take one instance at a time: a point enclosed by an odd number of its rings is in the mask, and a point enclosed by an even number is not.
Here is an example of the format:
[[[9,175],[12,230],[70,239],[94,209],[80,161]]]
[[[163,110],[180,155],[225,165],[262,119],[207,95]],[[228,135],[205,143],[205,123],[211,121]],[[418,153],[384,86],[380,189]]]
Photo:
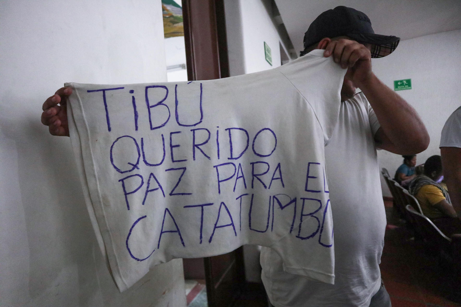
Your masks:
[[[379,148],[399,155],[426,150],[429,145],[426,127],[414,108],[373,74],[366,46],[347,39],[330,41],[324,56],[332,56],[336,63],[348,68],[345,80],[360,87],[370,102],[381,124],[375,133]]]

